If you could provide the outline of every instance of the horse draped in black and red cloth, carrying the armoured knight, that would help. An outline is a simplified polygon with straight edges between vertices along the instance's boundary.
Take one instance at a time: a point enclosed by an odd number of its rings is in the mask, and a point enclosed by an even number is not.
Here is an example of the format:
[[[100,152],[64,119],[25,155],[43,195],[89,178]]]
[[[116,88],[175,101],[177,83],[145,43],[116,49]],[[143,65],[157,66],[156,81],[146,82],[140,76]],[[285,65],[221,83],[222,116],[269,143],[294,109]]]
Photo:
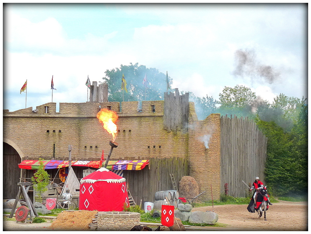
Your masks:
[[[269,205],[267,202],[267,189],[266,187],[256,190],[256,207],[254,203],[254,198],[252,197],[251,201],[248,204],[248,211],[251,213],[255,213],[257,211],[258,218],[262,217],[262,213],[264,213],[264,219],[267,221],[266,211],[269,209]]]

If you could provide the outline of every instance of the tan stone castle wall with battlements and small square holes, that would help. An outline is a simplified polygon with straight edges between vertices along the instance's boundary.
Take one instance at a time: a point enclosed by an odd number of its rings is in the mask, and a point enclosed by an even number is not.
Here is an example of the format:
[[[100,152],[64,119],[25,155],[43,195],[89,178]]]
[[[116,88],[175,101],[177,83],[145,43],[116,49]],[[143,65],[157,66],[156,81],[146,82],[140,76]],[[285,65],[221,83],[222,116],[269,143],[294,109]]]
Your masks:
[[[118,148],[112,159],[182,157],[189,161],[190,176],[197,181],[200,198],[220,197],[220,115],[211,114],[197,120],[194,103],[189,103],[188,133],[163,129],[164,101],[46,103],[10,112],[3,110],[4,142],[11,142],[25,157],[67,160],[72,145],[72,160],[100,160],[102,150],[107,157],[112,136],[96,118],[101,108],[115,111]],[[155,107],[155,112],[152,111]],[[208,139],[208,137],[210,138]],[[208,142],[208,148],[204,142]],[[20,154],[21,155],[21,154]]]

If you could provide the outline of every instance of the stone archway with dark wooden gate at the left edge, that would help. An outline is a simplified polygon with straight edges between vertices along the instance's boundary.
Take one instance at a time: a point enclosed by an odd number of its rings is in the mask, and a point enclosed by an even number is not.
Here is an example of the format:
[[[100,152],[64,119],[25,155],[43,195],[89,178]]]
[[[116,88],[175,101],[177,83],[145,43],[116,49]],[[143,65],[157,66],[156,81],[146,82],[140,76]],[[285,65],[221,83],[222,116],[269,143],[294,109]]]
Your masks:
[[[18,192],[17,183],[20,181],[21,169],[18,164],[21,163],[21,155],[9,140],[3,139],[3,199],[16,198]]]

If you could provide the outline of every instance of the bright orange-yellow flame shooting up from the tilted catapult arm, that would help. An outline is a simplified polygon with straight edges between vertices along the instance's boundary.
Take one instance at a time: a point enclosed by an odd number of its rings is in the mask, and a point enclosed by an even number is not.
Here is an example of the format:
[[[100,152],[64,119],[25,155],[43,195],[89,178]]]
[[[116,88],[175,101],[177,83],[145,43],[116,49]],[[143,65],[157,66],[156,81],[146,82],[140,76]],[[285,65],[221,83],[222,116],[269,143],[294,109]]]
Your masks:
[[[117,112],[108,109],[101,109],[100,112],[97,113],[96,117],[99,119],[99,122],[103,124],[104,129],[112,135],[112,141],[114,142],[117,137],[116,122],[119,117]]]

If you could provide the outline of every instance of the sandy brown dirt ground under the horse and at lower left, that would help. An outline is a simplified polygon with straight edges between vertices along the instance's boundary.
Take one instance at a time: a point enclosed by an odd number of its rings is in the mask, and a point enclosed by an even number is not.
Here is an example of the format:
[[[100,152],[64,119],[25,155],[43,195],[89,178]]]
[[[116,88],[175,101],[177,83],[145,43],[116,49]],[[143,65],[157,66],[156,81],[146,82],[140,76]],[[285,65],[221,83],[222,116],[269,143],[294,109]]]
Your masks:
[[[247,205],[215,205],[194,207],[192,211],[214,211],[218,214],[218,223],[228,224],[228,228],[240,231],[307,231],[308,204],[306,202],[280,201],[269,206],[267,221],[258,218],[257,213],[249,213]],[[51,223],[21,223],[3,221],[3,231],[53,231]],[[220,228],[225,231],[225,228]],[[59,229],[57,230],[59,231]]]

